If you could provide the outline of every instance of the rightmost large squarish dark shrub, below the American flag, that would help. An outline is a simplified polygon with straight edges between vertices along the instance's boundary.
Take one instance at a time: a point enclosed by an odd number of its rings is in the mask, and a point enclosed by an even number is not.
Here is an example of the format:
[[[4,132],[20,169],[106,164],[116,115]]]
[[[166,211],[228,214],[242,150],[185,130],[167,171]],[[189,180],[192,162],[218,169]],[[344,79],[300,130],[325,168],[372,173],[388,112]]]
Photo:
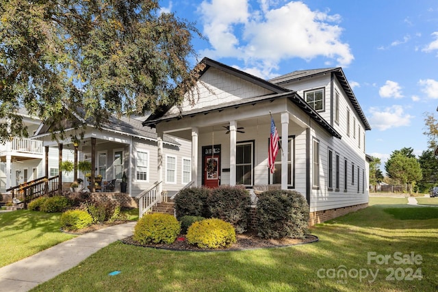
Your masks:
[[[297,191],[264,191],[257,201],[257,231],[262,238],[303,238],[308,232],[309,205]]]

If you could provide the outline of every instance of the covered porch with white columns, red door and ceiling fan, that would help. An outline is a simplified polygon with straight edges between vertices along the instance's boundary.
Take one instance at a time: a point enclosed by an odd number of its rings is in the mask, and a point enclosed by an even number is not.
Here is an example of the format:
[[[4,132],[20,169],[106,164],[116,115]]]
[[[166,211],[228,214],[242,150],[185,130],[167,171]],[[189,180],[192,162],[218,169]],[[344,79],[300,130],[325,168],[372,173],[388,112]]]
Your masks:
[[[272,174],[268,168],[271,117],[281,145]],[[144,124],[156,127],[158,137],[168,133],[192,141],[193,185],[244,185],[249,189],[276,185],[281,189],[300,188],[305,194],[309,170],[309,125],[305,120],[287,98],[267,98]],[[162,148],[160,142],[158,148]],[[164,157],[158,159],[163,161]],[[158,173],[162,173],[162,164]]]

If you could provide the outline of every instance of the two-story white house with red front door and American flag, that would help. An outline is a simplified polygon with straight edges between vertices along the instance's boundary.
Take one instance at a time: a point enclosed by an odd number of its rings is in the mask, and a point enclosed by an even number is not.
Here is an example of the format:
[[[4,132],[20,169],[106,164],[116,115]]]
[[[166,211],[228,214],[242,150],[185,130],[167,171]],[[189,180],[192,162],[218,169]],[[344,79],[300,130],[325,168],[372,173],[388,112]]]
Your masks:
[[[365,131],[371,128],[342,68],[266,81],[202,62],[196,104],[184,101],[143,122],[158,137],[192,141],[195,185],[293,189],[307,198],[313,223],[368,205]],[[271,114],[282,148],[274,174],[268,170]]]

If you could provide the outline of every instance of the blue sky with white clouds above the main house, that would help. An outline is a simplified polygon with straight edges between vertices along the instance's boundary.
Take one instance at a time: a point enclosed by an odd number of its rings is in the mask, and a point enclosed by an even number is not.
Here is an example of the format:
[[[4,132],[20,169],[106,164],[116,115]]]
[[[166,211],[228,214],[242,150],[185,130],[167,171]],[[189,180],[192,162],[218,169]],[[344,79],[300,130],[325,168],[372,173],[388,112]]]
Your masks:
[[[160,1],[196,22],[210,57],[264,79],[341,66],[372,130],[366,152],[382,159],[427,149],[426,113],[438,106],[438,1]]]

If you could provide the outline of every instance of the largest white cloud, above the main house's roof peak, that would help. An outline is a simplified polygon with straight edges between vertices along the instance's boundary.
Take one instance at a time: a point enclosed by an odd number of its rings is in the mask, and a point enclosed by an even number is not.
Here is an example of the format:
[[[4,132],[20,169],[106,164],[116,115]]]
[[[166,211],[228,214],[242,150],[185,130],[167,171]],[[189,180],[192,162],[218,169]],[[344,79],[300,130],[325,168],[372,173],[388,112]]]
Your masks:
[[[352,62],[350,46],[340,40],[343,29],[338,14],[311,11],[302,2],[275,9],[270,8],[272,3],[261,0],[256,10],[248,0],[203,1],[198,12],[212,49],[201,54],[244,59],[248,68],[263,67],[258,68],[262,72],[294,57],[325,57],[337,66]]]

